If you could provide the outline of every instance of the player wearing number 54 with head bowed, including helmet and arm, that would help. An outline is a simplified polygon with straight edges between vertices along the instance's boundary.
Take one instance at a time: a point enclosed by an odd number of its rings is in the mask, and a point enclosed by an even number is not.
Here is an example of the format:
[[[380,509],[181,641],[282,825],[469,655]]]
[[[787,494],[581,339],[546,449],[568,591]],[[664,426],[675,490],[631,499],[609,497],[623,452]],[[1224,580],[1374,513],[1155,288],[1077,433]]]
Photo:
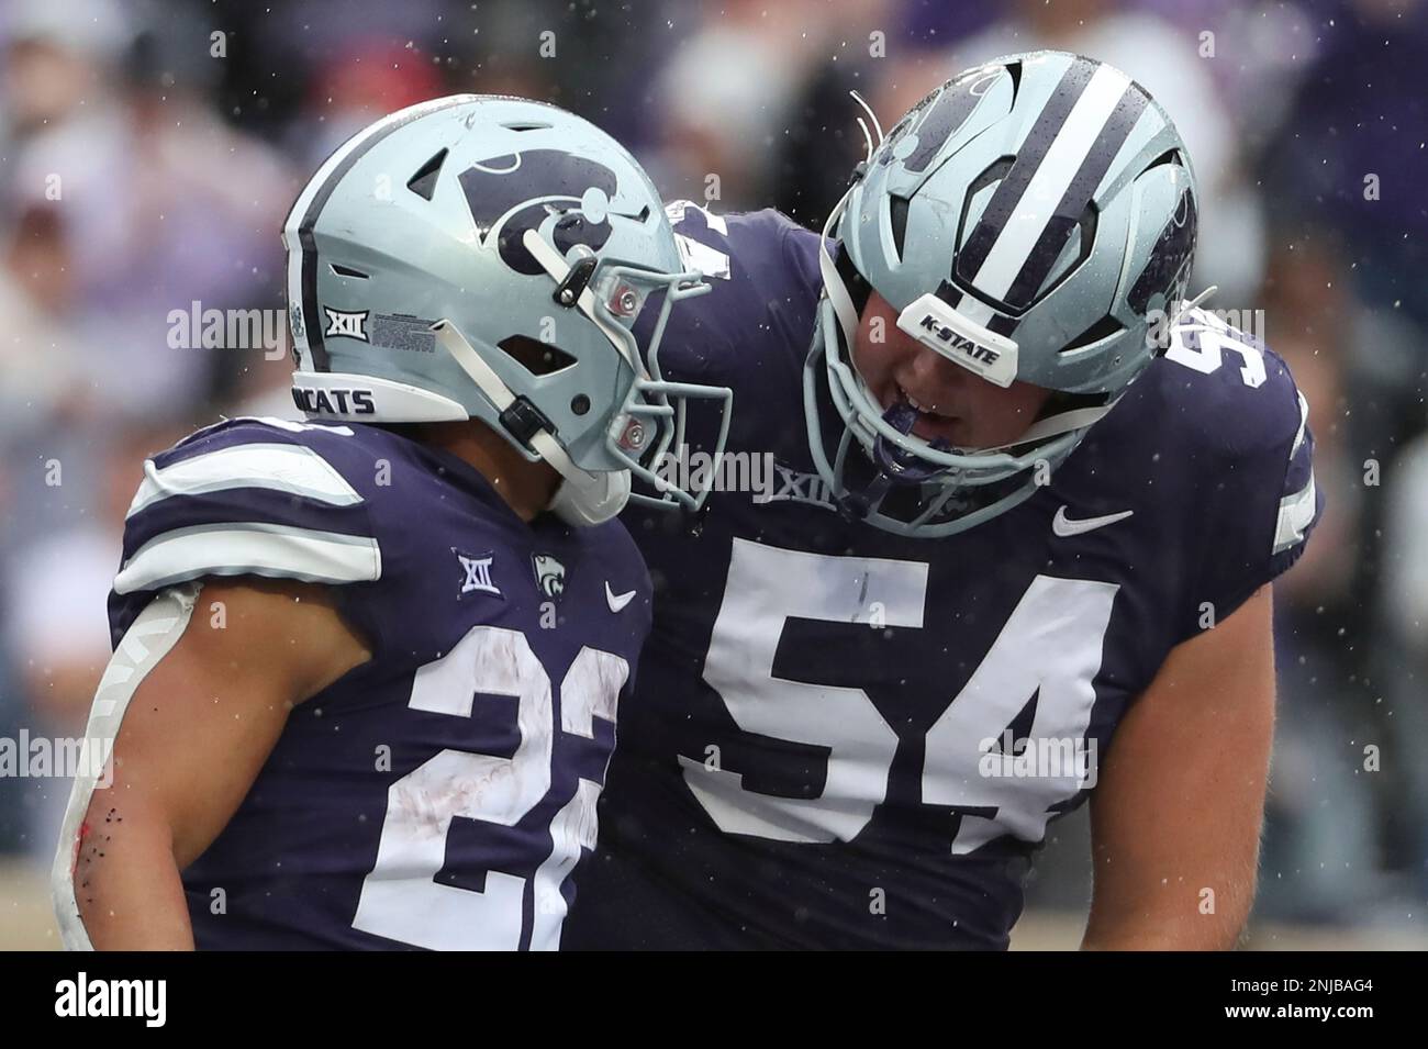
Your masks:
[[[568,943],[1004,948],[1087,799],[1088,946],[1235,942],[1321,498],[1284,361],[1184,303],[1197,211],[1161,106],[1060,51],[870,133],[834,243],[671,208],[671,374],[775,482],[627,512],[660,589]]]

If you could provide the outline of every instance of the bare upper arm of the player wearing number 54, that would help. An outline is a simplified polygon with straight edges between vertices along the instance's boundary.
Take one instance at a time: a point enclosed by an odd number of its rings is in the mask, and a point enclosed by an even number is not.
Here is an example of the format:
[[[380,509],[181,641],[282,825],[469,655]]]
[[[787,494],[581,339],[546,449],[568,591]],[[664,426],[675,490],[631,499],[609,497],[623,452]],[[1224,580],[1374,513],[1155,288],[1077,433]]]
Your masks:
[[[1091,795],[1082,948],[1225,951],[1254,902],[1274,731],[1271,587],[1180,644]]]

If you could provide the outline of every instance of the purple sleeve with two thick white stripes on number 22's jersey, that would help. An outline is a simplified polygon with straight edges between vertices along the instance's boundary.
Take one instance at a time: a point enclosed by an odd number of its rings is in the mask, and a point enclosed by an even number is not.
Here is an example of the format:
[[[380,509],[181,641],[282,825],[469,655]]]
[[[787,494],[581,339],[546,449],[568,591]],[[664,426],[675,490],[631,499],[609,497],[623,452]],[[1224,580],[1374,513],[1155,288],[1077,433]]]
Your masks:
[[[340,465],[347,457],[337,442],[351,434],[231,420],[146,461],[110,595],[114,644],[154,592],[190,579],[378,581],[381,545],[367,500],[350,464],[347,474]]]

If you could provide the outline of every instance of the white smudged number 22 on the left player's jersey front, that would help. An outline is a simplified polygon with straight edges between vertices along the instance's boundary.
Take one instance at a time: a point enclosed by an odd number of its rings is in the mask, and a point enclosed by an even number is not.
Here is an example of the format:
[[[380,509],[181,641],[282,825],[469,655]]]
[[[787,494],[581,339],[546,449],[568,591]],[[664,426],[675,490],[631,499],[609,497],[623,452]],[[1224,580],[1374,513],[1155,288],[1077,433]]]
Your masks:
[[[614,722],[630,674],[618,655],[581,649],[560,688],[561,728],[593,735],[593,719]],[[353,928],[441,951],[516,949],[524,932],[526,878],[486,872],[474,892],[436,882],[446,863],[447,832],[457,816],[514,826],[550,791],[554,715],[550,675],[518,631],[477,625],[444,657],[417,671],[407,705],[471,716],[476,694],[517,699],[520,745],[510,758],[446,749],[397,779],[377,863],[363,881]],[[560,886],[595,839],[597,784],[580,781],[551,824],[551,853],[534,875],[533,949],[554,949],[565,903]],[[557,902],[558,901],[558,902]]]

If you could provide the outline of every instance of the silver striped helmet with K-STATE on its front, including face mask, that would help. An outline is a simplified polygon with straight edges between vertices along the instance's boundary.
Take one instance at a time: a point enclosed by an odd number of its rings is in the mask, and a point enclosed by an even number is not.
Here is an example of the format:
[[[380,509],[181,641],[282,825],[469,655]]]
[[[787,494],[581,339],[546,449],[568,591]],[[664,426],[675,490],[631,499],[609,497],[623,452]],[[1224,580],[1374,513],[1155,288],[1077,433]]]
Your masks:
[[[814,462],[840,502],[887,531],[935,537],[1032,495],[1152,360],[1152,318],[1184,297],[1194,200],[1164,111],[1120,71],[1071,54],[964,73],[870,141],[824,228],[804,371]],[[994,385],[1060,392],[1054,414],[997,448],[914,435],[915,414],[884,408],[853,360],[871,290],[930,351]],[[821,401],[843,424],[831,442]],[[863,491],[850,488],[867,472],[850,471],[850,452],[871,464]]]

